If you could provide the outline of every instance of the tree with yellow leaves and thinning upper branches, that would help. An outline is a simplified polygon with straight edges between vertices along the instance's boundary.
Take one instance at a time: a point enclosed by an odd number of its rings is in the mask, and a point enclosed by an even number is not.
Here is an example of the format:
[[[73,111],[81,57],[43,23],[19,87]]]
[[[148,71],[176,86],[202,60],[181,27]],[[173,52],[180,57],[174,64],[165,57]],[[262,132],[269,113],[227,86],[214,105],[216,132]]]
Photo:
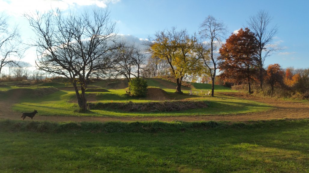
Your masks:
[[[203,62],[193,52],[196,42],[196,37],[189,36],[187,30],[176,31],[175,27],[157,32],[147,42],[151,56],[165,59],[170,65],[178,93],[182,93],[181,82],[186,76],[197,76],[203,69]]]

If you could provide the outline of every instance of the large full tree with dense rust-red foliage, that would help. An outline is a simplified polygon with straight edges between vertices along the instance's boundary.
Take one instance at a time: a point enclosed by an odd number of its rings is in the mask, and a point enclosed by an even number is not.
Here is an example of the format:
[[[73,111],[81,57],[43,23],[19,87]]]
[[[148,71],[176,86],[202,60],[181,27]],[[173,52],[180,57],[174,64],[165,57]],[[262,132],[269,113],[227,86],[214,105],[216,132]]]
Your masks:
[[[256,37],[248,28],[232,34],[219,49],[219,68],[223,71],[220,77],[228,82],[248,83],[251,93],[251,81],[257,72],[257,48]]]

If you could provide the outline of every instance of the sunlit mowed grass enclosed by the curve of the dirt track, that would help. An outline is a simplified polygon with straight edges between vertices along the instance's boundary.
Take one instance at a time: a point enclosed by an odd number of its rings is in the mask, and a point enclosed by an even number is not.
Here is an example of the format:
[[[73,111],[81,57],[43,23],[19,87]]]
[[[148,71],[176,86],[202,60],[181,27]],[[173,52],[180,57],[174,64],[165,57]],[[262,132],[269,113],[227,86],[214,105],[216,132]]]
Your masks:
[[[110,92],[93,92],[96,97],[95,102],[133,102],[145,103],[150,102],[147,98],[134,98],[124,95],[125,90],[109,90]],[[272,109],[272,106],[255,101],[239,99],[217,93],[215,97],[205,95],[188,94],[179,95],[166,90],[167,94],[173,100],[186,101],[205,101],[209,106],[201,109],[189,109],[186,111],[171,112],[128,112],[122,110],[101,109],[90,110],[86,113],[77,113],[75,93],[73,91],[57,91],[48,96],[40,98],[22,98],[19,103],[13,106],[13,110],[19,112],[38,110],[38,115],[63,115],[63,116],[191,116],[191,115],[227,115],[241,114],[257,111],[266,111]],[[154,102],[154,101],[151,101]],[[158,102],[158,101],[155,101]]]

